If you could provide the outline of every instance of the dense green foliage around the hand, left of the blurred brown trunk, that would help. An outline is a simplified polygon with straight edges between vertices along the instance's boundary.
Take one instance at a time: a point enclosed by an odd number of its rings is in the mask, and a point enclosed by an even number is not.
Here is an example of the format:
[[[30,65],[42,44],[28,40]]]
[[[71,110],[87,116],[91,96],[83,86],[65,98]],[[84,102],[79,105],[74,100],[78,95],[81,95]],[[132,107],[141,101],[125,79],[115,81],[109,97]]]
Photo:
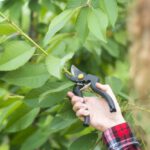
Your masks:
[[[73,84],[64,72],[75,64],[99,76],[124,103],[127,6],[127,0],[0,1],[0,149],[102,148],[99,133],[72,112],[66,92]]]

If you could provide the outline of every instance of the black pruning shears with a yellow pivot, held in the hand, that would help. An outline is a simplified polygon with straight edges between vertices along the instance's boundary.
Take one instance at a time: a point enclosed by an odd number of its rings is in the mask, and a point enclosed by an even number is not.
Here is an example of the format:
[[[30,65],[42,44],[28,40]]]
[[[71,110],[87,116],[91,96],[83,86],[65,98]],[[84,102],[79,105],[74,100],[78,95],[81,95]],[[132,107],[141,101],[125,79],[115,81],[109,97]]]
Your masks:
[[[75,82],[75,85],[73,87],[73,93],[75,95],[83,97],[82,91],[87,87],[91,87],[91,89],[95,93],[101,95],[107,101],[110,112],[116,112],[116,107],[112,98],[106,92],[96,87],[96,83],[99,82],[99,78],[97,76],[92,74],[86,74],[85,72],[79,70],[77,67],[72,65],[71,74],[66,73],[66,77],[72,82]],[[90,116],[85,116],[83,125],[89,126],[89,124]]]

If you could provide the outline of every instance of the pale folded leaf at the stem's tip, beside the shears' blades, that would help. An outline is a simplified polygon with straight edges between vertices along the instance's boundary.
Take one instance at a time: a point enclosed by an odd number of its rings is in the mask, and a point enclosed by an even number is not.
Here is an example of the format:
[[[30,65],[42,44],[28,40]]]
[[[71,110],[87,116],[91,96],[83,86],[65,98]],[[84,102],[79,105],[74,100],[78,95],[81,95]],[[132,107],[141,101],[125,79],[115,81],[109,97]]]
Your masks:
[[[61,71],[65,65],[65,63],[73,57],[73,53],[67,54],[62,59],[55,57],[53,55],[48,55],[46,58],[46,66],[50,75],[60,79]]]

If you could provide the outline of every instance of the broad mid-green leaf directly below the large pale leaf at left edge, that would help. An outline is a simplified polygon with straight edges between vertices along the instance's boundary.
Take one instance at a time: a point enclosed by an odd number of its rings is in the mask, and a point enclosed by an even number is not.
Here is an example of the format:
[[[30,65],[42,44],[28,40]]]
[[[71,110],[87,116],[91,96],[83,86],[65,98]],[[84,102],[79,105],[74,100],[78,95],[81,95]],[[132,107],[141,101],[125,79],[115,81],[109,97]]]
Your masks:
[[[48,78],[46,66],[40,63],[26,64],[18,70],[7,73],[3,80],[13,85],[38,88],[44,85]]]

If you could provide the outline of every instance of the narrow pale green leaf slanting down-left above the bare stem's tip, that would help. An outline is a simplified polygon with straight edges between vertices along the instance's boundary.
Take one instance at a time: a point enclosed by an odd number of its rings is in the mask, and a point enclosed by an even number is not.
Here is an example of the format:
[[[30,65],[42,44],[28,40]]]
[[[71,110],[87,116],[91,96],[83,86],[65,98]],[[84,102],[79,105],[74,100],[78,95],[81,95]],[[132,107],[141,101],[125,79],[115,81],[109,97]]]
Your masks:
[[[51,37],[65,26],[65,24],[69,21],[73,14],[74,10],[65,10],[52,20],[48,32],[44,38],[44,45],[47,45]]]

